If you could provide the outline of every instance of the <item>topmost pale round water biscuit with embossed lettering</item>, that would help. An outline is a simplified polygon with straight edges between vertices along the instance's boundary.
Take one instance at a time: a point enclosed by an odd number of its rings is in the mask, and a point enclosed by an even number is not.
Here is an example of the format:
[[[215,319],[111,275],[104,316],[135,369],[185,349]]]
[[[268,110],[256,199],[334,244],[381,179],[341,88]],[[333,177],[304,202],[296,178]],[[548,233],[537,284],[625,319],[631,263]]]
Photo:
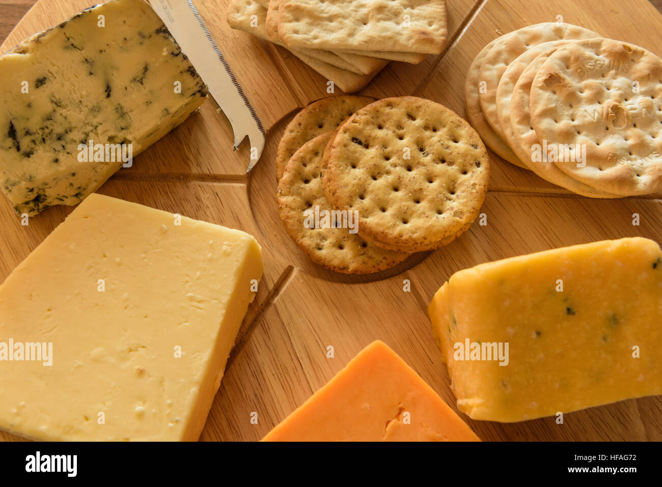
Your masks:
[[[662,190],[662,59],[611,39],[573,42],[540,67],[531,87],[540,140],[585,151],[564,173],[622,196]]]

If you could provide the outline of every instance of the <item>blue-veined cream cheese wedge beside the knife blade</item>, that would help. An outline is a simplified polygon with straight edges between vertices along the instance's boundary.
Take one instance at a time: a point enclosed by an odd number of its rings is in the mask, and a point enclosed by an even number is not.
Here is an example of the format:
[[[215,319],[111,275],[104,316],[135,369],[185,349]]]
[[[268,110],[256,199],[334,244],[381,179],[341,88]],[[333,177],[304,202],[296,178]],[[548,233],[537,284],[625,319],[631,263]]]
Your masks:
[[[87,9],[0,57],[0,187],[19,214],[77,204],[206,96],[147,3]]]

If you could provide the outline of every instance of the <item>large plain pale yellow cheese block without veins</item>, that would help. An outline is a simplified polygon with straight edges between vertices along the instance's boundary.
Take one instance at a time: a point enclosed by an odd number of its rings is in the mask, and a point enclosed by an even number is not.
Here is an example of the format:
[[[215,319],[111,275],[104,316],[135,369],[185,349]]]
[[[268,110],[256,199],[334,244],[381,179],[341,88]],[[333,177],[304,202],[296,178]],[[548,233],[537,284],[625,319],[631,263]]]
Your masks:
[[[196,440],[261,273],[244,232],[89,195],[0,286],[0,429]]]

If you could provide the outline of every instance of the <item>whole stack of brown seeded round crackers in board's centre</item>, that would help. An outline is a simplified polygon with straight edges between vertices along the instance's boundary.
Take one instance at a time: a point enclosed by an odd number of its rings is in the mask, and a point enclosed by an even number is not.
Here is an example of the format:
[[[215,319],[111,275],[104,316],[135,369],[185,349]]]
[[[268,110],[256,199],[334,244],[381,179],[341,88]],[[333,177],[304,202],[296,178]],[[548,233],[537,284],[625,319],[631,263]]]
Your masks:
[[[277,171],[289,236],[310,259],[343,273],[383,271],[449,244],[478,216],[489,184],[475,130],[417,97],[309,105],[285,129]],[[317,216],[330,212],[331,222],[355,226],[325,226]]]

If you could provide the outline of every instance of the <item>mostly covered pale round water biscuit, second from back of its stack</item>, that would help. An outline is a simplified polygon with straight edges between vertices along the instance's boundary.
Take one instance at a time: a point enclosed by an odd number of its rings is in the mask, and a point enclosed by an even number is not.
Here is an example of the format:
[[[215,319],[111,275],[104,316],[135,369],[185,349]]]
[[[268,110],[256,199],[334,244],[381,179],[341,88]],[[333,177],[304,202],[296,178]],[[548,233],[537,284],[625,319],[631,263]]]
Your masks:
[[[508,66],[526,50],[545,42],[562,39],[587,39],[599,36],[600,34],[577,25],[543,22],[542,24],[534,24],[513,30],[498,39],[498,42],[489,50],[483,64],[481,64],[479,79],[485,82],[485,89],[479,93],[479,99],[487,122],[502,140],[506,136],[501,130],[496,114],[496,90]]]

